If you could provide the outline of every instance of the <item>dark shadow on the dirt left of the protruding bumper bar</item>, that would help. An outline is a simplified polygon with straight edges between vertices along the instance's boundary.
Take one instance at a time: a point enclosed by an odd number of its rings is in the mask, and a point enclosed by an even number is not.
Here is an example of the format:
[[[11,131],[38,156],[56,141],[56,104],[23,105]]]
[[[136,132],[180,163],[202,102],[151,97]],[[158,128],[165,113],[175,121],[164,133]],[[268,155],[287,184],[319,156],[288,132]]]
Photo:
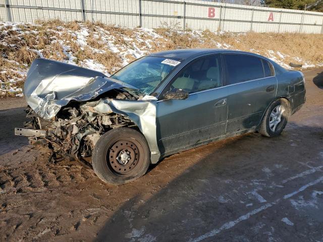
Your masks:
[[[23,127],[27,120],[24,107],[0,110],[0,155],[28,145],[28,139],[15,136],[15,128]]]

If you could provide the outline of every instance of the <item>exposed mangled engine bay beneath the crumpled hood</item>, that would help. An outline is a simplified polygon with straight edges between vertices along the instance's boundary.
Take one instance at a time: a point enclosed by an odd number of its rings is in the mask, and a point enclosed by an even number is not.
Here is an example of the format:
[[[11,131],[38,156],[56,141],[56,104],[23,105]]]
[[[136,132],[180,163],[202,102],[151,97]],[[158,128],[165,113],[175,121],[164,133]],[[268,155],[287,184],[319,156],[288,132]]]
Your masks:
[[[136,100],[136,97],[122,90],[112,90],[106,94],[120,100]],[[30,137],[29,143],[46,145],[51,151],[51,161],[76,157],[84,162],[82,157],[91,156],[102,134],[120,127],[138,129],[127,116],[114,112],[95,113],[79,102],[71,102],[51,119],[39,117],[30,106],[26,108],[26,114],[31,120],[24,124],[25,129],[46,131],[45,137]]]

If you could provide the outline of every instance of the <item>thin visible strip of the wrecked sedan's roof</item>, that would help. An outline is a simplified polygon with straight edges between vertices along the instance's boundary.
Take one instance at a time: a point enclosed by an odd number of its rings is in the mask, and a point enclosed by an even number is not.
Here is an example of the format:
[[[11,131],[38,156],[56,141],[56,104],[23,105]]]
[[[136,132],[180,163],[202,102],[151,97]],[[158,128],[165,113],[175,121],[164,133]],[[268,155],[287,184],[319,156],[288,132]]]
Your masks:
[[[160,51],[156,53],[149,54],[148,56],[157,56],[157,57],[167,57],[167,58],[178,58],[178,59],[187,59],[197,54],[208,54],[208,53],[240,53],[240,54],[252,54],[259,56],[254,53],[239,51],[239,50],[230,50],[230,49],[174,49]]]

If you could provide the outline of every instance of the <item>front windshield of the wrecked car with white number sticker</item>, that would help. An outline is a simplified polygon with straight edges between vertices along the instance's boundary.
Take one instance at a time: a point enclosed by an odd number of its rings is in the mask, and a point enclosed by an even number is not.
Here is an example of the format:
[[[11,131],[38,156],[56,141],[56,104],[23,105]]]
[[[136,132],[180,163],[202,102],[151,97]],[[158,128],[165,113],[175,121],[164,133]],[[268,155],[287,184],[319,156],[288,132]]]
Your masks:
[[[111,78],[125,82],[149,95],[180,62],[165,57],[146,56],[129,64]]]

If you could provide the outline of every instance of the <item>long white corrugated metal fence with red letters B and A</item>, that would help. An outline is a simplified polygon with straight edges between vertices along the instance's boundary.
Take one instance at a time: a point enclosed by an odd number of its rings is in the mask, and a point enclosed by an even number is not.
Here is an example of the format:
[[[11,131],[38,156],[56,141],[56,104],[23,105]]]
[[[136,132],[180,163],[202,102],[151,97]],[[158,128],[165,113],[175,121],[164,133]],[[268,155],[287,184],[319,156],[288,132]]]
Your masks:
[[[323,13],[199,0],[0,0],[0,20],[99,21],[123,27],[323,33]]]

